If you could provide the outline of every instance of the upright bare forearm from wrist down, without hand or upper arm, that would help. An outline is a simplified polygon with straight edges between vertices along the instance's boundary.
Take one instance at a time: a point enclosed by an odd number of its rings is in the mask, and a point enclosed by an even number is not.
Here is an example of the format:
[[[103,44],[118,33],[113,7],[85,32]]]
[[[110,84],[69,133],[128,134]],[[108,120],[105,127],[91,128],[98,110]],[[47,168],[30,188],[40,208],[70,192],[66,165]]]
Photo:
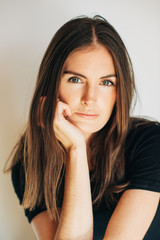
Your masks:
[[[68,153],[64,199],[55,239],[93,239],[92,200],[85,148],[74,148]]]

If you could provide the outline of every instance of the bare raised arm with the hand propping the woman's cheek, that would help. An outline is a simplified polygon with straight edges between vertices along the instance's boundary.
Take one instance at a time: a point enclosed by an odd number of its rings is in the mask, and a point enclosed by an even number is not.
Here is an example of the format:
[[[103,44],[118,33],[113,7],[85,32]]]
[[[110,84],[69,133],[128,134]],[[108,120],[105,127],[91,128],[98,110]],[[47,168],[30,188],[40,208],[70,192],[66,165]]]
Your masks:
[[[59,223],[49,219],[47,212],[32,220],[39,240],[92,240],[93,211],[86,143],[82,132],[64,116],[71,114],[68,106],[58,102],[54,130],[67,151],[64,199]]]

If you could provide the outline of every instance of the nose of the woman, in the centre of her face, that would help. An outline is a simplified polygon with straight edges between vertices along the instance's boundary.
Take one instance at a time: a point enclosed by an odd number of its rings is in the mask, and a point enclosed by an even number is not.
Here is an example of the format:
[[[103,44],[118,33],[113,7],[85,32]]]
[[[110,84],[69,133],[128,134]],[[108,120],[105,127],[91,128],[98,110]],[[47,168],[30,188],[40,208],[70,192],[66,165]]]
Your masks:
[[[82,104],[92,105],[97,101],[97,89],[95,86],[86,85],[82,94]]]

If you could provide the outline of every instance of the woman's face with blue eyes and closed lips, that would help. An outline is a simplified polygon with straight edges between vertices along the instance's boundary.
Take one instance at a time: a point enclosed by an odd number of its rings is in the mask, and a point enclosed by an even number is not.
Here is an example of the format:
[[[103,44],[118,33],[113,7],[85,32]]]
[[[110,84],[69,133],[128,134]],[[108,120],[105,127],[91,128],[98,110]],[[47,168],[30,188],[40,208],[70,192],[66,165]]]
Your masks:
[[[72,53],[64,64],[59,98],[68,104],[68,120],[86,136],[109,120],[116,102],[116,75],[112,57],[98,44]]]

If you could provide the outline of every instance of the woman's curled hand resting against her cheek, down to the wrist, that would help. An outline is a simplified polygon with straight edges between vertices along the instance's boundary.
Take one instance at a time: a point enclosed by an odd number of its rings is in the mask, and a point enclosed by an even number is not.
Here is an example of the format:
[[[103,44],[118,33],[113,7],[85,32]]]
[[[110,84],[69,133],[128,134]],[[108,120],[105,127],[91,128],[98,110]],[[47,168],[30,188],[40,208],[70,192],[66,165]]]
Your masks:
[[[68,120],[68,116],[71,115],[70,107],[58,100],[53,127],[57,139],[62,142],[66,150],[85,145],[82,131]]]

